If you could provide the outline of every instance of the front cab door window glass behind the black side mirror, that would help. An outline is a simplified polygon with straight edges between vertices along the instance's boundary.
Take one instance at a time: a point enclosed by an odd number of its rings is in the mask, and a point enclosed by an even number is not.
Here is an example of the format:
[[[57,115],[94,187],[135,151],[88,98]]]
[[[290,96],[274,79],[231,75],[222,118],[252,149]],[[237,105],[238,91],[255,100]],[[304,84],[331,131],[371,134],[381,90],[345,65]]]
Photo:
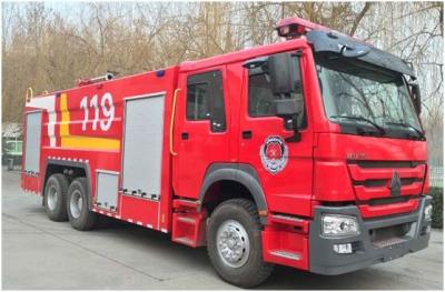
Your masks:
[[[294,57],[294,74],[300,75],[299,59]],[[264,72],[260,68],[249,69],[249,89],[248,89],[248,113],[251,118],[257,117],[274,117],[275,115],[275,103],[274,93],[270,87],[270,79],[267,72]],[[306,127],[306,111],[304,105],[303,87],[295,84],[295,92],[291,93],[291,98],[296,99],[298,105],[303,108],[304,114],[298,117],[298,125],[300,129]],[[291,128],[291,121],[286,122],[286,128]]]

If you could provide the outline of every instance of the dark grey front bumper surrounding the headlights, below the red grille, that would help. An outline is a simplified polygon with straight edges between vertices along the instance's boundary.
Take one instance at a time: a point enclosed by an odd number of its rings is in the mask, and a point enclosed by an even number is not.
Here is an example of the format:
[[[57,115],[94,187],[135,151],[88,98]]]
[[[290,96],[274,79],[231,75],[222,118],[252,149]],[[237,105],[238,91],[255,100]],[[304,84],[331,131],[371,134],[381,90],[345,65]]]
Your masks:
[[[424,219],[424,209],[431,197],[419,199],[417,211],[408,214],[378,218],[364,221],[357,207],[317,207],[309,226],[309,270],[318,274],[343,274],[375,263],[390,261],[409,252],[428,246],[431,221]],[[348,238],[326,238],[322,235],[322,215],[345,214],[357,218],[360,233]],[[397,239],[376,241],[372,233],[390,226],[411,223],[411,230]],[[353,253],[338,254],[334,244],[353,243]]]

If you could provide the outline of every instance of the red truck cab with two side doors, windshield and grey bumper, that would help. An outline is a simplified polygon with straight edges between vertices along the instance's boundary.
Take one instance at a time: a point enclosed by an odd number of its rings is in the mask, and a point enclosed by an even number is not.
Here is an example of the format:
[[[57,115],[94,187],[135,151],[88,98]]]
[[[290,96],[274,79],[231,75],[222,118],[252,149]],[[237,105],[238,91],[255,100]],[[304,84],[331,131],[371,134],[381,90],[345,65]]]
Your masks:
[[[253,197],[264,260],[315,273],[426,248],[432,205],[413,69],[298,18],[277,31],[285,42],[180,66],[175,192],[198,194],[209,213]],[[246,249],[236,222],[215,229]],[[236,282],[225,269],[249,255],[224,242],[207,242],[225,250],[210,259]]]

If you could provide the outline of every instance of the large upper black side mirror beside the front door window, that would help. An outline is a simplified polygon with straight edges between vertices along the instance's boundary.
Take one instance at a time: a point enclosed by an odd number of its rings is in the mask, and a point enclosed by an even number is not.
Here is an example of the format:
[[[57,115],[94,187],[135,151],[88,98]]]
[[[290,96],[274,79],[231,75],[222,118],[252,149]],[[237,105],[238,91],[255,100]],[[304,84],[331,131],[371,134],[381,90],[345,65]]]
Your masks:
[[[271,91],[275,95],[288,94],[295,88],[295,70],[290,53],[277,53],[269,57],[267,62]]]

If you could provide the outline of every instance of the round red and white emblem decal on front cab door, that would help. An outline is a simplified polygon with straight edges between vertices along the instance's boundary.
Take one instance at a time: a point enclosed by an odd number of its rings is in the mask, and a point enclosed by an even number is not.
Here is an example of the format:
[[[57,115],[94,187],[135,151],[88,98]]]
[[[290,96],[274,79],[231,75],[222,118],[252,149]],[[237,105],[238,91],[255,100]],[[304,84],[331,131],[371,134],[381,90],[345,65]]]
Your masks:
[[[277,174],[286,168],[288,150],[281,137],[270,135],[259,149],[263,167],[271,174]]]

